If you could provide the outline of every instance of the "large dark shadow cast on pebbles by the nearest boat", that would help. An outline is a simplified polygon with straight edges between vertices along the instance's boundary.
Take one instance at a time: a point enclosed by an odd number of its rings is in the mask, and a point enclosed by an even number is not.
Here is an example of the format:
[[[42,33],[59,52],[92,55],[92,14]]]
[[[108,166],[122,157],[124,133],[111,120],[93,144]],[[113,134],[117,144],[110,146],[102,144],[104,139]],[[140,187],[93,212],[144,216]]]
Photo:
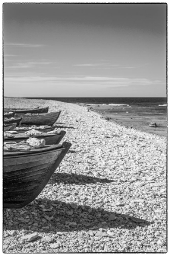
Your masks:
[[[44,212],[42,205],[50,211]],[[96,232],[100,227],[103,229],[135,229],[136,227],[147,227],[151,224],[146,219],[110,212],[101,207],[94,208],[88,205],[77,205],[58,200],[52,201],[46,197],[35,199],[32,204],[22,209],[7,209],[7,214],[10,219],[13,219],[13,222],[12,224],[4,222],[4,230],[25,229],[28,232],[34,230],[42,233],[80,230],[86,230],[86,232],[94,230]],[[114,215],[115,219],[109,220],[110,215]],[[47,220],[47,217],[49,220]],[[43,221],[40,221],[42,219]],[[35,222],[38,222],[38,227],[33,226]],[[112,231],[114,232],[114,230]]]

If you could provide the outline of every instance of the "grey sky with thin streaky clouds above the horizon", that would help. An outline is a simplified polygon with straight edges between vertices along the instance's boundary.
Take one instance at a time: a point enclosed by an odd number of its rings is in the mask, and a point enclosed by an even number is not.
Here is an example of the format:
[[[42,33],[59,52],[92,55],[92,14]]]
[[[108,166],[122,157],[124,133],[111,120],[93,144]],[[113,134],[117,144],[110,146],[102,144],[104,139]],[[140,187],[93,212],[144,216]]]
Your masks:
[[[3,4],[4,96],[166,97],[166,4]]]

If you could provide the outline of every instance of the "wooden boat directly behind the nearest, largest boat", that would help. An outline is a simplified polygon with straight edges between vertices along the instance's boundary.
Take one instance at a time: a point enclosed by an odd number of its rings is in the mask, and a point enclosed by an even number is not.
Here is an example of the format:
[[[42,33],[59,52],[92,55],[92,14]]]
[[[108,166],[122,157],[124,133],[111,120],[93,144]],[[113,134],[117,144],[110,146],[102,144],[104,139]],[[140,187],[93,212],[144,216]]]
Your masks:
[[[41,135],[25,135],[24,133],[18,133],[13,134],[15,137],[13,138],[5,138],[4,142],[9,141],[15,141],[16,143],[22,141],[22,140],[28,140],[29,138],[38,138],[38,140],[44,139],[46,140],[46,145],[53,145],[53,144],[59,144],[60,141],[63,139],[66,132],[64,130],[61,130],[61,132],[56,134],[48,134],[43,132]]]

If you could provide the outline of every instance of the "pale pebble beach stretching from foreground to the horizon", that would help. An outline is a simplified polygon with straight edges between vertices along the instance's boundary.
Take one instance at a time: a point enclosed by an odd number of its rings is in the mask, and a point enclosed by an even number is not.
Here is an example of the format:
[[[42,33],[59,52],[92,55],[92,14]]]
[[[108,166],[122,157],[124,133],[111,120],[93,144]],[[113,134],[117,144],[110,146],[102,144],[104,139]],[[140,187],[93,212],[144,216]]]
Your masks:
[[[76,104],[4,98],[38,106],[61,110],[55,125],[72,146],[35,201],[4,208],[3,252],[167,252],[166,137]]]

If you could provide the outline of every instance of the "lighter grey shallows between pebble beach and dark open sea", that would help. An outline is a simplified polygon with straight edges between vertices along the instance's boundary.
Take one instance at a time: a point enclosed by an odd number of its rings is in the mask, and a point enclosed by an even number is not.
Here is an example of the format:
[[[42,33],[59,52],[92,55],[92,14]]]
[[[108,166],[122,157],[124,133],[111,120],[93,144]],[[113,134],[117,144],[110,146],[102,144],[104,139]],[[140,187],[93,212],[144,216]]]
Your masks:
[[[82,105],[82,104],[79,104]],[[147,132],[167,137],[167,110],[161,109],[160,112],[153,108],[141,107],[137,105],[106,105],[106,104],[83,104],[110,121],[114,121],[126,128],[133,128],[140,132]],[[149,111],[150,109],[150,111]],[[148,114],[147,114],[148,113]],[[154,123],[154,126],[150,124]],[[156,126],[155,126],[156,124]]]

